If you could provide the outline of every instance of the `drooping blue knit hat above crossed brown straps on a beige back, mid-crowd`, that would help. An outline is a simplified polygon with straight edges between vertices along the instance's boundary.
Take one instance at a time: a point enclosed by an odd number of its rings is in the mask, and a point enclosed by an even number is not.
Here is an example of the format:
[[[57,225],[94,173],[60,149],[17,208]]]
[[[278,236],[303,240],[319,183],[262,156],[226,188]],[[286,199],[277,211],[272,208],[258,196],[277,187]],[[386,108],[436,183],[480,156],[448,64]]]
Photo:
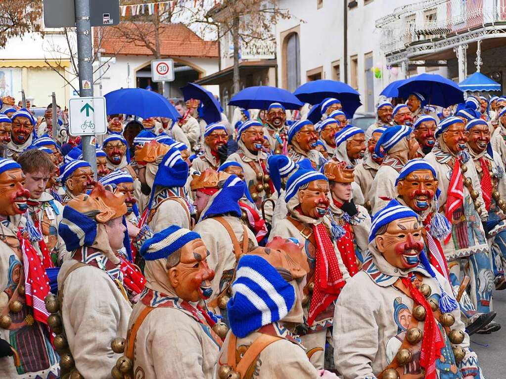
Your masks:
[[[200,220],[225,213],[241,217],[241,208],[238,202],[244,196],[245,188],[246,183],[238,176],[230,175],[223,183],[222,188],[209,199]]]

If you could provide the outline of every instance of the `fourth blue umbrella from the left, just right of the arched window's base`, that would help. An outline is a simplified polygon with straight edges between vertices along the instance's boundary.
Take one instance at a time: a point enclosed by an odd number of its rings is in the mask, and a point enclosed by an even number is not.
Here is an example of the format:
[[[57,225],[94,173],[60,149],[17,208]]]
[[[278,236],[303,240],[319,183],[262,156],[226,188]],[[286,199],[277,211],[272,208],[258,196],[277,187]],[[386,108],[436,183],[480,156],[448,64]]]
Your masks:
[[[297,88],[293,94],[300,101],[309,104],[319,104],[327,98],[338,99],[348,118],[353,117],[357,108],[362,105],[360,94],[348,84],[337,80],[309,81]]]

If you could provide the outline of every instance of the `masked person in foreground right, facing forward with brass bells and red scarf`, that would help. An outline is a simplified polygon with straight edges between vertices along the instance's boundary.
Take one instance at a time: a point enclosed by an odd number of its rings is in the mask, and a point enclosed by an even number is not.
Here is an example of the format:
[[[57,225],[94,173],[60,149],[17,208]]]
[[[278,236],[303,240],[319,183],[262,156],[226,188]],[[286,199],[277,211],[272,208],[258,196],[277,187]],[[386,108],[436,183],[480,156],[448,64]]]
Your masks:
[[[335,307],[334,361],[344,377],[482,377],[450,283],[428,262],[422,236],[416,213],[396,200],[375,215],[371,254]]]

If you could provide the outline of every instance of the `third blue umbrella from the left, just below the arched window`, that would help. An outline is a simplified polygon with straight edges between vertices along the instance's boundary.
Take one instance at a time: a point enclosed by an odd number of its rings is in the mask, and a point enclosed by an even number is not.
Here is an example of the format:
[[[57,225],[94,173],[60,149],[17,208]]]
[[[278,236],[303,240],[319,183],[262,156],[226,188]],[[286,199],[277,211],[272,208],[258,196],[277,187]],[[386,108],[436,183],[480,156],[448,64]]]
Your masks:
[[[280,103],[286,109],[300,109],[304,105],[290,91],[268,85],[244,88],[237,92],[228,105],[244,109],[267,109],[272,103]]]

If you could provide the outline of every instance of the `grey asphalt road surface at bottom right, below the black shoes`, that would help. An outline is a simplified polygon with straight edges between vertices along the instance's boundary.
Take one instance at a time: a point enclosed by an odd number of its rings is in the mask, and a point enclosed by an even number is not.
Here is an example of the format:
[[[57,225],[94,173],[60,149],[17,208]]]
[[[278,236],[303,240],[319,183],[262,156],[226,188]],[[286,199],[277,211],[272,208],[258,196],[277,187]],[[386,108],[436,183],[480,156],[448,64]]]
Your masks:
[[[497,312],[494,321],[502,328],[489,335],[474,334],[471,336],[471,348],[478,354],[478,359],[486,379],[506,377],[506,290],[495,291],[493,309]]]

